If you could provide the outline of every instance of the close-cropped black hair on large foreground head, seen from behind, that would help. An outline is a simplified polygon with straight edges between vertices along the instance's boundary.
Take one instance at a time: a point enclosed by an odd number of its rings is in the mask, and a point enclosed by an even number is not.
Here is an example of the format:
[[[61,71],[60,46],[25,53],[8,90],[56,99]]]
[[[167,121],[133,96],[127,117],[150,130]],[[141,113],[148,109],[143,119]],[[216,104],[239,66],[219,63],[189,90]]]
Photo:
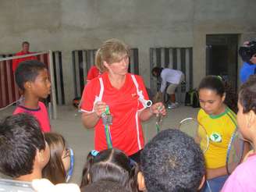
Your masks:
[[[162,130],[140,156],[148,192],[197,191],[205,173],[204,155],[192,137],[180,130]]]

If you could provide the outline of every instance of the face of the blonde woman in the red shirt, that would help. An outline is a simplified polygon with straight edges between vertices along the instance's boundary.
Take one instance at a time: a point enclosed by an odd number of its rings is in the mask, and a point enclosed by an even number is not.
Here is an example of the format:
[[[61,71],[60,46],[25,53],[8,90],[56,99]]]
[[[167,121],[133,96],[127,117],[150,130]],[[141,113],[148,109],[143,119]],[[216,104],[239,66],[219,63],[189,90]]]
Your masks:
[[[129,68],[129,56],[123,55],[123,57],[118,62],[112,62],[111,64],[105,62],[104,65],[108,69],[109,73],[116,75],[126,75]]]

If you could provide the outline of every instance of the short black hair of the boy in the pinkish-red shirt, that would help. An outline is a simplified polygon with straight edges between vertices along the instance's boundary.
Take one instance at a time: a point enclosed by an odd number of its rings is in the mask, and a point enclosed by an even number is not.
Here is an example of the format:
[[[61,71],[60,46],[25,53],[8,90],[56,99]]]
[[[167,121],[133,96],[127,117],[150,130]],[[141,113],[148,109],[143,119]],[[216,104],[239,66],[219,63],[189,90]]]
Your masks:
[[[37,60],[20,62],[19,66],[15,70],[16,84],[22,91],[24,91],[24,84],[27,81],[33,82],[38,76],[38,73],[43,69],[47,69],[47,67],[44,65],[44,63]]]

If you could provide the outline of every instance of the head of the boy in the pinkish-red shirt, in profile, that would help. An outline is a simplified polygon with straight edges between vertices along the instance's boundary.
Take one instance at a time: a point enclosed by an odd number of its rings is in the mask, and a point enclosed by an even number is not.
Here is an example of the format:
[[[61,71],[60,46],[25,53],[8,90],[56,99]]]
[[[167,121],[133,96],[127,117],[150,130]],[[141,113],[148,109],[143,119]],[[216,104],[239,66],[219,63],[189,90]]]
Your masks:
[[[38,98],[47,98],[51,91],[51,82],[47,67],[37,60],[20,62],[15,71],[15,80],[18,87],[26,92],[37,95]]]

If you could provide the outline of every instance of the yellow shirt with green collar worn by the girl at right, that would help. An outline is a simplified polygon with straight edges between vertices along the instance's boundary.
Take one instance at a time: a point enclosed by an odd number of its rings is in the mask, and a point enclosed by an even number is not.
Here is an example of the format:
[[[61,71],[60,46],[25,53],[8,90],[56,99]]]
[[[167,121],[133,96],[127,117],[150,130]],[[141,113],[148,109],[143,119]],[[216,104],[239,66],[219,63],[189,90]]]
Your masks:
[[[226,165],[226,152],[233,131],[236,130],[236,114],[228,107],[217,116],[208,115],[201,108],[197,121],[204,126],[209,147],[204,153],[206,168],[216,169]]]

